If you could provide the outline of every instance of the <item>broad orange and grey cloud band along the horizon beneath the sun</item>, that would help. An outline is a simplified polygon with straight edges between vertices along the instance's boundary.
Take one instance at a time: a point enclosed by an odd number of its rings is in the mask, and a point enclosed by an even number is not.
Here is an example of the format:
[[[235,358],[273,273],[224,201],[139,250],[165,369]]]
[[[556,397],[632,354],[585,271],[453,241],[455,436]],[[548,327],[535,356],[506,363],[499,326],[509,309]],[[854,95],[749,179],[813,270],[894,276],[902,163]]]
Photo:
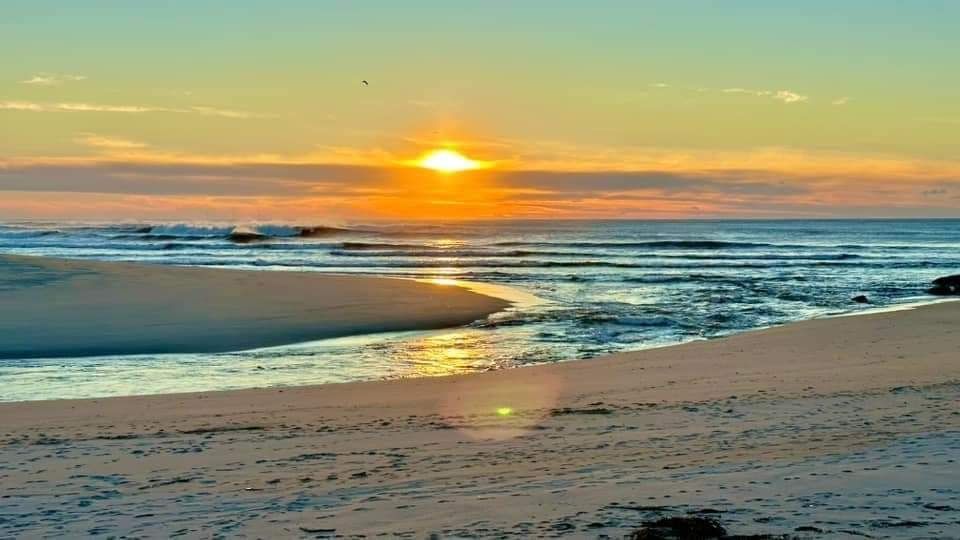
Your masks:
[[[960,190],[957,161],[776,148],[615,149],[613,155],[629,153],[631,159],[612,169],[611,154],[580,149],[578,155],[593,160],[581,164],[583,170],[558,170],[563,162],[544,159],[537,163],[540,168],[521,161],[528,168],[511,169],[504,163],[437,182],[432,171],[398,166],[388,154],[371,155],[364,164],[364,156],[343,159],[339,150],[191,155],[93,133],[77,140],[104,152],[0,159],[0,210],[3,201],[17,200],[20,206],[10,212],[27,215],[25,208],[36,208],[39,215],[36,205],[42,200],[59,201],[45,210],[55,217],[136,217],[140,209],[131,201],[198,218],[228,208],[238,216],[249,211],[272,219],[332,215],[334,209],[358,218],[402,219],[686,217],[691,212],[700,217],[960,216],[956,202],[942,195]],[[568,150],[557,148],[569,155]],[[331,162],[338,158],[353,163]],[[81,200],[86,202],[79,207]],[[107,200],[127,202],[109,208],[98,202]]]

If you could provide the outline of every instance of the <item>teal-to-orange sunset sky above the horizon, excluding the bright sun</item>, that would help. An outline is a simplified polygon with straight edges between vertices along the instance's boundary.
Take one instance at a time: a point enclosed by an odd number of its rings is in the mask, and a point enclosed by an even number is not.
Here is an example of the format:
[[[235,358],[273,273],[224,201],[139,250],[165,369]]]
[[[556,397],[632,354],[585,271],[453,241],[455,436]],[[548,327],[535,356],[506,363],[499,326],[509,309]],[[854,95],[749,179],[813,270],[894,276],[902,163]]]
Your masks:
[[[0,219],[960,217],[958,20],[0,0]],[[417,166],[442,148],[488,166]]]

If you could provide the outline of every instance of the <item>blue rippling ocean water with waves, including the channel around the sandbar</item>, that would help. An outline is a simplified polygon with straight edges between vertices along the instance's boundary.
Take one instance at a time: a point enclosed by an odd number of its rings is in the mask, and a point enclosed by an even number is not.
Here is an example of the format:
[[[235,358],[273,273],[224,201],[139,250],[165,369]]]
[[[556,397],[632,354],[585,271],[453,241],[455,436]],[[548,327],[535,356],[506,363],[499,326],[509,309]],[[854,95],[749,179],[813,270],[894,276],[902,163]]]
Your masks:
[[[0,400],[15,401],[486,371],[924,301],[932,279],[960,272],[960,220],[16,222],[0,224],[0,253],[429,279],[516,302],[451,330],[0,360]]]

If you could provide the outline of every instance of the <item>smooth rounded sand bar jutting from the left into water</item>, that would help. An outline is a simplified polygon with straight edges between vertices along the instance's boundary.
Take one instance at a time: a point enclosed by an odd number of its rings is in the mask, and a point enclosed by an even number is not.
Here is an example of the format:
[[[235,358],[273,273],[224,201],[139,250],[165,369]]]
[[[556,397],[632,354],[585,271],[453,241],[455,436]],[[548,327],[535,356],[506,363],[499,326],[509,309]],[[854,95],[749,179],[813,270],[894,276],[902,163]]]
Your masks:
[[[402,279],[0,256],[0,358],[234,351],[459,326],[507,305]]]

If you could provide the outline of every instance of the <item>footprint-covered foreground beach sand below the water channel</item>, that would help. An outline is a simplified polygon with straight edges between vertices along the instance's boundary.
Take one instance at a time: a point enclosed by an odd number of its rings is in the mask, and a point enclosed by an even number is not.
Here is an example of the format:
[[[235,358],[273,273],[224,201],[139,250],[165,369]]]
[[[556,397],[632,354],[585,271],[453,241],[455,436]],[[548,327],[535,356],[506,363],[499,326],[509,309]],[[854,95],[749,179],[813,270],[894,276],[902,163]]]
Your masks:
[[[0,404],[0,535],[960,537],[960,304],[404,381]]]

